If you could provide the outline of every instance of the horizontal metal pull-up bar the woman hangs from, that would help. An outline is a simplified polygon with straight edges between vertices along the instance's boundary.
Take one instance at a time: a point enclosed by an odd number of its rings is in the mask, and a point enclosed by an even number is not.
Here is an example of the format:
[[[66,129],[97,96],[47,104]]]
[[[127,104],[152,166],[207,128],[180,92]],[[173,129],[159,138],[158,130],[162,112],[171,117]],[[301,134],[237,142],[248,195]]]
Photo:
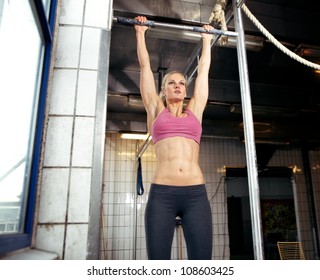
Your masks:
[[[125,18],[125,17],[114,17],[113,22],[117,22],[123,25],[145,25],[149,27],[162,27],[162,28],[171,28],[171,29],[179,29],[184,31],[193,31],[199,33],[210,33],[215,35],[225,35],[236,37],[238,36],[237,32],[232,31],[223,31],[220,29],[212,29],[206,30],[200,26],[191,26],[191,25],[181,25],[181,24],[172,24],[172,23],[163,23],[163,22],[156,22],[153,20],[147,20],[146,22],[141,23],[140,21],[132,18]]]

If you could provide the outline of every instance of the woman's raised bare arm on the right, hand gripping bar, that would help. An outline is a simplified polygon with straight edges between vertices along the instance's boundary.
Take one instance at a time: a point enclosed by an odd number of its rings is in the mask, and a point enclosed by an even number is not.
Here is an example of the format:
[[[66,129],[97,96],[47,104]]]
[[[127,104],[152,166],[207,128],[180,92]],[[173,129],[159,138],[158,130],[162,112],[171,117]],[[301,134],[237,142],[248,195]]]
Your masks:
[[[211,30],[210,25],[203,26],[206,30]],[[202,121],[202,114],[206,107],[209,96],[209,70],[211,64],[211,40],[212,34],[201,33],[202,37],[202,51],[198,62],[198,74],[195,80],[194,93],[191,97],[188,108],[194,112],[200,122]]]

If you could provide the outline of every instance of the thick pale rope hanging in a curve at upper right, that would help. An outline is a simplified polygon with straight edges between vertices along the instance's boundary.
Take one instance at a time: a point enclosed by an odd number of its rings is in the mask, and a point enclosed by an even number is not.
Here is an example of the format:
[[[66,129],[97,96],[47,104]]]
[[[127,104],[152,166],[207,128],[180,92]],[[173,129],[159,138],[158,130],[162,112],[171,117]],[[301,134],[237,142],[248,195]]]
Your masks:
[[[253,24],[282,52],[284,52],[286,55],[290,56],[292,59],[317,70],[320,70],[320,65],[310,62],[301,56],[297,55],[293,51],[286,48],[284,45],[282,45],[271,33],[266,30],[263,25],[255,18],[255,16],[249,11],[247,6],[245,4],[242,4],[241,6],[244,13],[248,16],[248,18],[253,22]]]

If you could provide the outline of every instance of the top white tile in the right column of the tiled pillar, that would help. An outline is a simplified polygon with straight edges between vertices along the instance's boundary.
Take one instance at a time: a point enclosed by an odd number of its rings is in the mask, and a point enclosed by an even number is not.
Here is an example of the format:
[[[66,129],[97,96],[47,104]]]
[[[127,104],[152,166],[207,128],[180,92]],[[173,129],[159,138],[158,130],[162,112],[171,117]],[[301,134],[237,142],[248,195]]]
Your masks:
[[[109,0],[87,0],[84,24],[108,28],[110,8]]]

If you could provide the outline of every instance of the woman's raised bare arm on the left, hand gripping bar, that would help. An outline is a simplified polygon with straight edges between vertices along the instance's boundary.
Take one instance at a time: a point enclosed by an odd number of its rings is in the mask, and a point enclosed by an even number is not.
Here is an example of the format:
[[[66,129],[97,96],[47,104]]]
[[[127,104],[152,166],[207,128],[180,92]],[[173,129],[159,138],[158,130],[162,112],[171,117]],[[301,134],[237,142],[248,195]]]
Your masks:
[[[136,19],[140,22],[147,20],[146,17],[143,16],[138,16]],[[145,38],[147,29],[147,26],[135,25],[137,54],[140,65],[140,92],[148,115],[148,128],[150,128],[151,123],[157,116],[159,106],[163,106],[163,103],[158,96],[154,76],[150,66],[150,58]]]

